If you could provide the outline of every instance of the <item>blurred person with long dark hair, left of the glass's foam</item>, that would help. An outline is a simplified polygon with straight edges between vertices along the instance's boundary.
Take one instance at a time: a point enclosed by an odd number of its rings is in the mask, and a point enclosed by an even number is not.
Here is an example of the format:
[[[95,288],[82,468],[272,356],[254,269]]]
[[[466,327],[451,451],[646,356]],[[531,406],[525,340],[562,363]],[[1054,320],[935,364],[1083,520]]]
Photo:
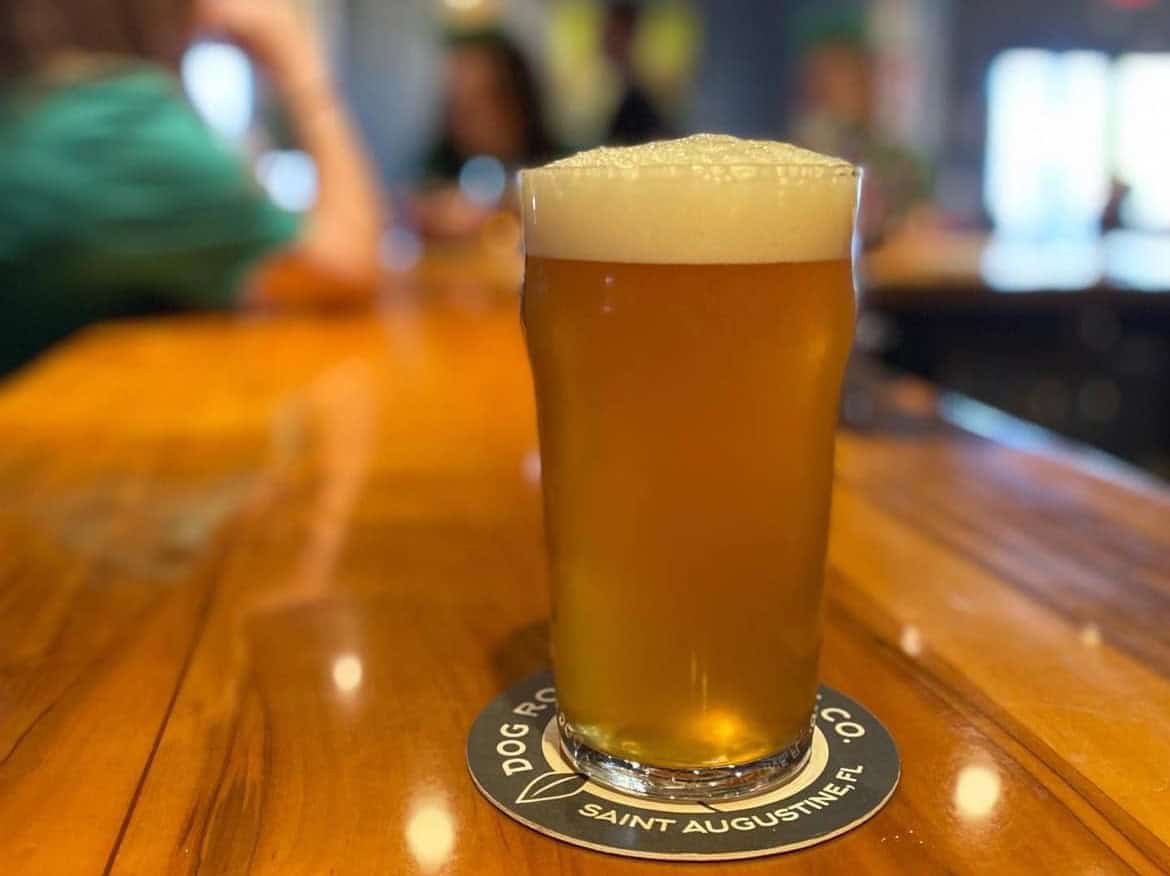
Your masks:
[[[422,187],[412,204],[414,222],[431,237],[476,232],[500,201],[460,188],[460,172],[473,159],[498,161],[504,187],[522,167],[553,157],[536,77],[523,53],[495,32],[448,37],[447,94],[442,127],[426,158]]]

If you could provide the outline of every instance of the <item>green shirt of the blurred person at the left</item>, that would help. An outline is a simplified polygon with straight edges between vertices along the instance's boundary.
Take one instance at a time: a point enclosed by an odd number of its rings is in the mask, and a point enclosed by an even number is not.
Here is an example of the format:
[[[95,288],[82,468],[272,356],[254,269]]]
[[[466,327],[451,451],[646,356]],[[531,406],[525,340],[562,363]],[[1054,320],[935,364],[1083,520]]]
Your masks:
[[[97,319],[230,306],[297,220],[174,77],[0,91],[0,373]]]

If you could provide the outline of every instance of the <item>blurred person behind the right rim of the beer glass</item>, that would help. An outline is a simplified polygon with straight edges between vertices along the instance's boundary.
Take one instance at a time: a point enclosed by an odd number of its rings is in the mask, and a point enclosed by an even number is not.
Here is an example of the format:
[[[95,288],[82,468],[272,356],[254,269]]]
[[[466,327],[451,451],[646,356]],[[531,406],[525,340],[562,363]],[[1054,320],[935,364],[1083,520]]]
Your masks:
[[[874,78],[863,26],[830,20],[806,36],[794,139],[865,167],[859,227],[869,246],[893,233],[915,207],[924,206],[931,192],[925,161],[882,134]]]

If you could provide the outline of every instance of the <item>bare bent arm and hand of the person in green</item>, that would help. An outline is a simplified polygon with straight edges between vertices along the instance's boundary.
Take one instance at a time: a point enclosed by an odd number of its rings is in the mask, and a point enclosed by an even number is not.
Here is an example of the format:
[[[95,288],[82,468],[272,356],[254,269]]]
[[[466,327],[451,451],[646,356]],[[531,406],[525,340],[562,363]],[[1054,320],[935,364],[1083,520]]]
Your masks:
[[[379,186],[316,40],[287,0],[202,0],[200,11],[204,27],[239,43],[268,74],[317,166],[317,201],[300,236],[255,268],[249,299],[277,305],[372,299],[381,273]]]

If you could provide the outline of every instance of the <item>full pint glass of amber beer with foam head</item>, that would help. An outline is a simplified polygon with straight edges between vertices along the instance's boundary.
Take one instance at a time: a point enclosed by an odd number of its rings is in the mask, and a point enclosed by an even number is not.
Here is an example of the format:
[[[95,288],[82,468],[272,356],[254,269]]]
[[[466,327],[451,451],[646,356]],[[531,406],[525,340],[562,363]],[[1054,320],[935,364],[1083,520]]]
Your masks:
[[[522,173],[557,722],[604,785],[808,757],[859,177],[711,134]]]

